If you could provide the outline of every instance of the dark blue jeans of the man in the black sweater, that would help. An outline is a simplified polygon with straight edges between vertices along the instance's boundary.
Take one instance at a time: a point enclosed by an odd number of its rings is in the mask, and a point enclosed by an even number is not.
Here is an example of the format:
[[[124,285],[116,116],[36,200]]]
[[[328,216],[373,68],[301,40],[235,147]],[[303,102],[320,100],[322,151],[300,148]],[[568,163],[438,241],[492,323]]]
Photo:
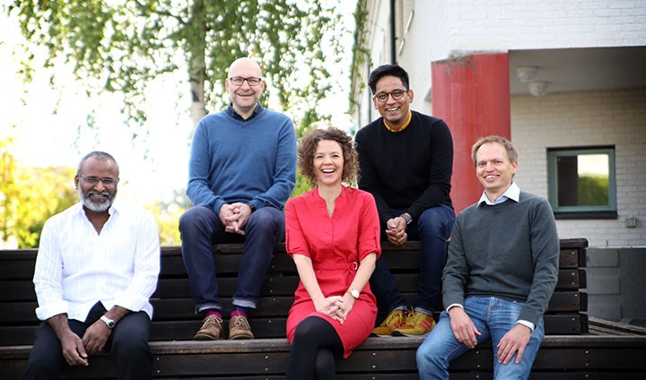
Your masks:
[[[406,210],[394,210],[393,212],[399,215]],[[411,222],[406,228],[408,240],[421,241],[420,274],[415,309],[426,314],[432,314],[435,307],[440,305],[441,274],[447,256],[446,240],[450,237],[454,221],[453,208],[441,204],[422,212],[419,219]],[[382,225],[381,229],[381,239],[386,240],[386,234],[383,232],[386,226]],[[380,310],[389,313],[397,307],[405,306],[404,298],[397,289],[393,275],[388,270],[384,255],[381,255],[377,260],[370,284]]]

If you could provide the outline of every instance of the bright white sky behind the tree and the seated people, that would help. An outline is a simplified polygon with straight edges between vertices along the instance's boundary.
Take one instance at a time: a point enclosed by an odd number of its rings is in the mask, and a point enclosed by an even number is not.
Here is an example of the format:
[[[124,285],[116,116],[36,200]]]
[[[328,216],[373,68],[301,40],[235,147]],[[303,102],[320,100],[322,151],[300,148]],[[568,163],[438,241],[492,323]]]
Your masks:
[[[345,22],[352,30],[352,14],[346,16]],[[352,37],[346,37],[351,44]],[[104,94],[89,99],[83,83],[74,80],[69,65],[57,65],[57,89],[49,86],[50,73],[42,69],[37,70],[31,83],[23,83],[18,74],[18,62],[24,56],[20,41],[17,20],[10,19],[0,7],[0,139],[13,137],[12,155],[17,165],[75,168],[85,153],[108,151],[120,167],[118,196],[127,202],[150,204],[168,199],[173,190],[186,187],[189,136],[195,126],[188,115],[186,73],[174,73],[148,84],[145,126],[153,133],[133,141],[132,130],[119,115],[121,96]],[[349,59],[343,65],[349,66]],[[331,71],[340,70],[336,67]],[[167,96],[167,90],[175,86],[187,92],[183,99]],[[333,125],[350,125],[345,113],[348,96],[344,92],[349,89],[348,80],[341,92],[329,97],[324,105],[324,112],[332,115]],[[85,126],[92,109],[97,110],[94,129]],[[69,183],[74,186],[74,178]]]

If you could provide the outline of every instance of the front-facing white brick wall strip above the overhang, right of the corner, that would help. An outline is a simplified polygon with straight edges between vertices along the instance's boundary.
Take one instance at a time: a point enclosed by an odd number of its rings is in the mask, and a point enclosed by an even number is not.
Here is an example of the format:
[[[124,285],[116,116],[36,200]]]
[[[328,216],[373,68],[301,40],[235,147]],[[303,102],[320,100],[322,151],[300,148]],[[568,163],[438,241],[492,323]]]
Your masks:
[[[640,46],[644,1],[461,0],[450,3],[451,51]]]

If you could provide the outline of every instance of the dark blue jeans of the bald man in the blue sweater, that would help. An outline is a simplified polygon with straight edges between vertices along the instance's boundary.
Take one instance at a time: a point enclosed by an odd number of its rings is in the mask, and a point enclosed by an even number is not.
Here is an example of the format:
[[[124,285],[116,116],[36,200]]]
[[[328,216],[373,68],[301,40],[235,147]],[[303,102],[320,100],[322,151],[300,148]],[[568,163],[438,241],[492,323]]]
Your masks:
[[[233,305],[256,308],[274,246],[284,241],[284,212],[263,207],[249,216],[245,235],[226,232],[218,215],[205,206],[188,209],[179,218],[182,256],[188,272],[196,313],[222,310],[220,303],[214,244],[244,243]]]

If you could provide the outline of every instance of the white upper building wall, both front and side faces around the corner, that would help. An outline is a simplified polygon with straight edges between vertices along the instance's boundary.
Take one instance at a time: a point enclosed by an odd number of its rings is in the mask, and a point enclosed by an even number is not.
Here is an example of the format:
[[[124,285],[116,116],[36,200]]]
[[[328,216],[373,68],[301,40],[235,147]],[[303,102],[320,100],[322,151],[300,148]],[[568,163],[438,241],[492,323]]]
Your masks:
[[[472,52],[510,49],[592,48],[646,44],[646,0],[398,0],[415,16],[397,62],[403,65],[415,91],[414,108],[431,114],[431,63]],[[378,22],[389,28],[388,2],[374,1]],[[406,20],[407,14],[403,16]],[[403,30],[406,25],[402,26]],[[388,61],[380,30],[371,44],[374,66]],[[378,117],[378,115],[373,115]]]

